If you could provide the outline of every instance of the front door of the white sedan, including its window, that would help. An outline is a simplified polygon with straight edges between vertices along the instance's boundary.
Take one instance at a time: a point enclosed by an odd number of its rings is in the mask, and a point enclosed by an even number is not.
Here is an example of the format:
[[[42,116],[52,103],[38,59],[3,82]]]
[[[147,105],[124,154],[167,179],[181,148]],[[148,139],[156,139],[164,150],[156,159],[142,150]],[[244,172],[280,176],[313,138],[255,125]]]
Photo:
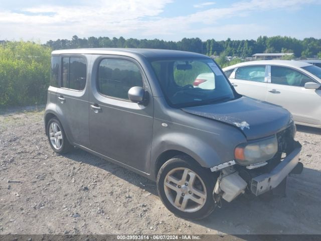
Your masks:
[[[304,73],[283,66],[270,66],[271,83],[268,83],[266,101],[288,109],[296,122],[320,125],[320,96],[318,90],[305,89],[306,82],[315,82]]]

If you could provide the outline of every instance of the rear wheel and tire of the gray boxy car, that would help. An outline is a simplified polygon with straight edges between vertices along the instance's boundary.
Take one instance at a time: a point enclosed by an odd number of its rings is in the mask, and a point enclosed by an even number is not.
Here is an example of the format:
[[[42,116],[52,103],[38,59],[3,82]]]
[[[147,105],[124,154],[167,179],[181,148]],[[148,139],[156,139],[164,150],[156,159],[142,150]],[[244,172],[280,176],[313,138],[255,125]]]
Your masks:
[[[51,118],[47,124],[47,136],[49,144],[54,152],[63,154],[72,149],[64,129],[56,117]]]

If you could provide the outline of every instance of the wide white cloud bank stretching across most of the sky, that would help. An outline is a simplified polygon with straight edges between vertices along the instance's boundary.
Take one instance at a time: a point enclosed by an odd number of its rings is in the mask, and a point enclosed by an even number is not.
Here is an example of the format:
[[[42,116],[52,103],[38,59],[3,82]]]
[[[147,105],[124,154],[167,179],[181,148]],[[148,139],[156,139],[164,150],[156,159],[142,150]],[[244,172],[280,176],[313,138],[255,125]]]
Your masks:
[[[24,38],[46,42],[49,39],[70,39],[75,34],[79,37],[161,38],[162,36],[165,39],[178,40],[185,36],[202,36],[206,39],[212,38],[209,36],[213,36],[213,33],[218,36],[220,32],[229,36],[226,29],[230,29],[232,35],[239,33],[240,36],[244,36],[244,33],[251,31],[262,34],[262,30],[260,32],[258,25],[255,24],[249,26],[221,23],[226,19],[244,18],[253,13],[293,10],[307,4],[319,4],[317,0],[304,2],[248,0],[236,2],[225,8],[213,6],[186,16],[162,17],[166,6],[170,5],[172,0],[91,0],[80,1],[79,5],[63,5],[64,1],[59,0],[55,2],[56,4],[37,5],[39,1],[31,0],[33,5],[24,4],[21,9],[17,7],[15,10],[0,7],[0,39]],[[198,6],[213,4],[214,2],[205,2]]]

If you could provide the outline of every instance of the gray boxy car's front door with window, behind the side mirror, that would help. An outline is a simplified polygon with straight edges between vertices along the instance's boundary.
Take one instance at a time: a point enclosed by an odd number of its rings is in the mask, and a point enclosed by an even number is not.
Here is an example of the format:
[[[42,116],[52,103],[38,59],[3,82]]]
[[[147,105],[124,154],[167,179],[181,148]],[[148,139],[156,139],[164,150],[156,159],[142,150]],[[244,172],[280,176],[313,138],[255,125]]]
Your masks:
[[[149,171],[153,99],[139,64],[125,57],[97,57],[89,96],[91,149],[143,172]],[[143,87],[146,106],[128,99],[128,90]]]

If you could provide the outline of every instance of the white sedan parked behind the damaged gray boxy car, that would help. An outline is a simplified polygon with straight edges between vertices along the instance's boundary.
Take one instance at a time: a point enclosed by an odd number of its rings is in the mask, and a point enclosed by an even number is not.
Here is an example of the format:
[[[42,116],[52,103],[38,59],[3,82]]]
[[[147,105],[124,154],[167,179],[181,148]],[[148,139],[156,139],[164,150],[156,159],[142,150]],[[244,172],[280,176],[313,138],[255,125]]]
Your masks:
[[[296,124],[321,128],[321,68],[288,60],[261,60],[223,69],[235,90],[288,109]]]

